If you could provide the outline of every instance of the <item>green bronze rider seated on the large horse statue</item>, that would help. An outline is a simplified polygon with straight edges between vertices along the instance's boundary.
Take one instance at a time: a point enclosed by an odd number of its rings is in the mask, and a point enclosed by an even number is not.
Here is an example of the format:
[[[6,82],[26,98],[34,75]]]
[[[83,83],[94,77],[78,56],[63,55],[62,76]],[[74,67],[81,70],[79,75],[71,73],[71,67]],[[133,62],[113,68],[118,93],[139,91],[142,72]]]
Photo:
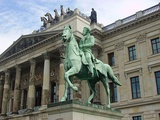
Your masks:
[[[91,76],[94,76],[93,72],[93,62],[92,60],[95,59],[94,55],[92,54],[91,47],[94,46],[94,37],[90,35],[90,29],[88,27],[83,28],[83,38],[81,39],[79,43],[80,50],[83,51],[85,58],[88,62],[88,68],[90,71]]]

